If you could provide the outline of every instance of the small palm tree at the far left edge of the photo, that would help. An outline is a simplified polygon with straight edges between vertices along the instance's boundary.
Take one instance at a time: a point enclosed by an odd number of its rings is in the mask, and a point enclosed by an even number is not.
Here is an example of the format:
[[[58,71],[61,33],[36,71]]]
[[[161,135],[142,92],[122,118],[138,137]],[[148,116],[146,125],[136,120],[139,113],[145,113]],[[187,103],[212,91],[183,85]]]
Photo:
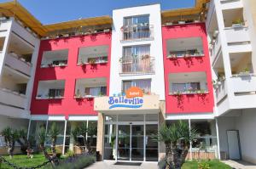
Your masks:
[[[4,137],[9,158],[12,159],[14,156],[15,142],[19,138],[19,133],[17,130],[13,130],[11,127],[6,127],[2,131],[2,135]]]

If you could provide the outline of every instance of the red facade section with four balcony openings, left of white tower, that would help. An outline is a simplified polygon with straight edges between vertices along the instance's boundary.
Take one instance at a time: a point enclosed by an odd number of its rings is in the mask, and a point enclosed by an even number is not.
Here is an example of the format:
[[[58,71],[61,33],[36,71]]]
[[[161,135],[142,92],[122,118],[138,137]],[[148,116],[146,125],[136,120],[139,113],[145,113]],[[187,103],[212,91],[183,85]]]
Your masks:
[[[96,65],[77,65],[79,48],[108,46],[108,63]],[[40,68],[44,51],[68,49],[67,66]],[[63,37],[55,40],[41,41],[38,64],[32,92],[32,115],[97,115],[94,111],[94,99],[74,99],[76,79],[107,78],[107,94],[109,93],[109,71],[111,53],[111,33],[81,37]],[[38,82],[46,80],[65,80],[63,99],[36,99]]]

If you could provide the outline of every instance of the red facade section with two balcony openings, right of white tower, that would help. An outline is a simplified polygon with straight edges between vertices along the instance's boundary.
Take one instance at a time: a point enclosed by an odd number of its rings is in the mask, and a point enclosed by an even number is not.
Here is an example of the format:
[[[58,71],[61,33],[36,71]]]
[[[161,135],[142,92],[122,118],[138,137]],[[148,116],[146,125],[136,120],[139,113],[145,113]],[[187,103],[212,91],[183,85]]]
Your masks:
[[[213,112],[212,74],[207,46],[205,24],[170,25],[162,27],[163,54],[166,86],[166,114],[188,114]],[[189,59],[167,59],[167,40],[188,37],[201,37],[204,56]],[[205,72],[208,93],[172,95],[169,91],[170,73]]]

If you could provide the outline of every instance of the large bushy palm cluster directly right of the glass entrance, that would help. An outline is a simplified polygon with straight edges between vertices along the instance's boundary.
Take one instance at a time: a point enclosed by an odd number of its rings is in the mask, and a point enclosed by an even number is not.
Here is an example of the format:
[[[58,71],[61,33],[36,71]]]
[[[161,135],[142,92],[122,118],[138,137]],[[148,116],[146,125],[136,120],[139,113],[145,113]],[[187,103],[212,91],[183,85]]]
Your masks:
[[[171,126],[163,124],[154,141],[166,144],[166,158],[164,167],[166,169],[180,169],[189,153],[190,142],[195,138],[195,129],[189,131],[189,124],[184,121],[177,121]]]

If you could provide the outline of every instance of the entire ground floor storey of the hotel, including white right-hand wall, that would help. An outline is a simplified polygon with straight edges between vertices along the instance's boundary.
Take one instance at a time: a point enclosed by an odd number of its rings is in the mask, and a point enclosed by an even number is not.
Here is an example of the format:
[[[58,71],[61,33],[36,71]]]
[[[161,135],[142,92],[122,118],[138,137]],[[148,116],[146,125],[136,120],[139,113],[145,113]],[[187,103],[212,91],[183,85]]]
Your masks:
[[[84,140],[88,140],[93,151],[98,151],[104,161],[160,161],[165,155],[165,144],[151,138],[160,125],[186,121],[195,128],[197,137],[190,143],[188,160],[232,159],[256,163],[256,114],[255,109],[230,110],[224,115],[163,115],[162,112],[113,111],[98,115],[32,115],[31,119],[20,119],[0,115],[1,131],[4,127],[28,128],[29,138],[34,138],[33,149],[38,148],[36,137],[39,129],[46,132],[55,123],[59,128],[57,149],[65,154],[82,153]],[[95,127],[85,135],[73,135],[76,127]],[[50,147],[50,142],[46,146]],[[15,153],[19,153],[19,144]],[[6,153],[3,136],[0,137],[0,153]]]

